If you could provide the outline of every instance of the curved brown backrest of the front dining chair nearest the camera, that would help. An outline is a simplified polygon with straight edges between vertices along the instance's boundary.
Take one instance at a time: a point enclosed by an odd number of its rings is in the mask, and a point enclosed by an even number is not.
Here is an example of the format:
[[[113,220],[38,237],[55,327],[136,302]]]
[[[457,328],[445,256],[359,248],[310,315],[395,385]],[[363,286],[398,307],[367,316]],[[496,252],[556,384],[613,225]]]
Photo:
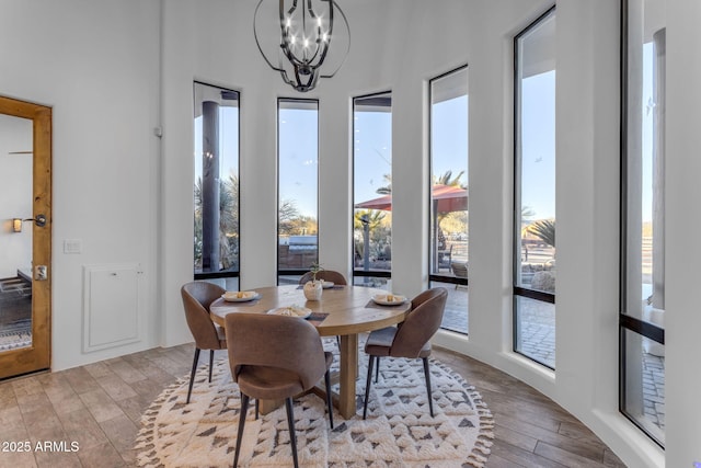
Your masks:
[[[292,372],[304,389],[326,372],[319,332],[304,319],[267,313],[229,313],[226,317],[231,376],[238,381],[243,366]]]

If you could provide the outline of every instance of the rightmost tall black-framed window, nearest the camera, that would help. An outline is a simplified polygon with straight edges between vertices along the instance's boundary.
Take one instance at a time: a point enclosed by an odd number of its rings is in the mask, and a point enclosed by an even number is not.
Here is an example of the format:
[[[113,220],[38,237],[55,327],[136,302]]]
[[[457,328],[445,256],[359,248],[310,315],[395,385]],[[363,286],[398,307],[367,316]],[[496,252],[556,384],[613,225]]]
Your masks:
[[[621,411],[664,446],[665,9],[623,4]]]

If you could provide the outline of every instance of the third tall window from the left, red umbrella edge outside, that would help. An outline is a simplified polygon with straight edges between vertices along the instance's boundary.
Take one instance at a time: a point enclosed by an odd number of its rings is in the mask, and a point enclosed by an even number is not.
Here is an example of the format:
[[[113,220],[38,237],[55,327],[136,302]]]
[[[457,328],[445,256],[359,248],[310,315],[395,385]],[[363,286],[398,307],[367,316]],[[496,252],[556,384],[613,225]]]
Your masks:
[[[392,94],[353,100],[353,276],[387,287],[392,270]]]

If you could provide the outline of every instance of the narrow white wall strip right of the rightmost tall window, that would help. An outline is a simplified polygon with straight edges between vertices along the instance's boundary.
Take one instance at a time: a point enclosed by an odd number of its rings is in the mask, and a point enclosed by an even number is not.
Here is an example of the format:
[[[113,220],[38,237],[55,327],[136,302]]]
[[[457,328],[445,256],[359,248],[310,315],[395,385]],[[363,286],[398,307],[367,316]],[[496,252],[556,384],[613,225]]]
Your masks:
[[[667,467],[701,461],[701,2],[667,3],[665,406]]]

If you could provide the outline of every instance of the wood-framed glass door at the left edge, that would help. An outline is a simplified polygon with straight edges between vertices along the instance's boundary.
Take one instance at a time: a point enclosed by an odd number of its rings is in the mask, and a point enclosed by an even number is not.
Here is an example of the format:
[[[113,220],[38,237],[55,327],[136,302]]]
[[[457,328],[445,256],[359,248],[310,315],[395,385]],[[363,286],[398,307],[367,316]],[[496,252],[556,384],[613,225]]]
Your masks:
[[[7,252],[0,265],[0,378],[7,378],[49,369],[51,364],[51,109],[0,96],[0,117],[10,127],[18,123],[31,132],[31,148],[0,150],[0,158],[30,158],[23,162],[27,181],[12,182],[18,196],[32,197],[25,205],[12,205],[12,194],[0,198],[0,213],[4,214],[0,216],[4,218],[0,219],[0,252]],[[11,167],[5,161],[4,168]],[[4,172],[5,178],[13,176],[9,170]],[[31,190],[23,186],[30,183]],[[9,212],[18,206],[26,206],[31,213]],[[28,258],[13,256],[18,249],[7,244],[22,246]]]

